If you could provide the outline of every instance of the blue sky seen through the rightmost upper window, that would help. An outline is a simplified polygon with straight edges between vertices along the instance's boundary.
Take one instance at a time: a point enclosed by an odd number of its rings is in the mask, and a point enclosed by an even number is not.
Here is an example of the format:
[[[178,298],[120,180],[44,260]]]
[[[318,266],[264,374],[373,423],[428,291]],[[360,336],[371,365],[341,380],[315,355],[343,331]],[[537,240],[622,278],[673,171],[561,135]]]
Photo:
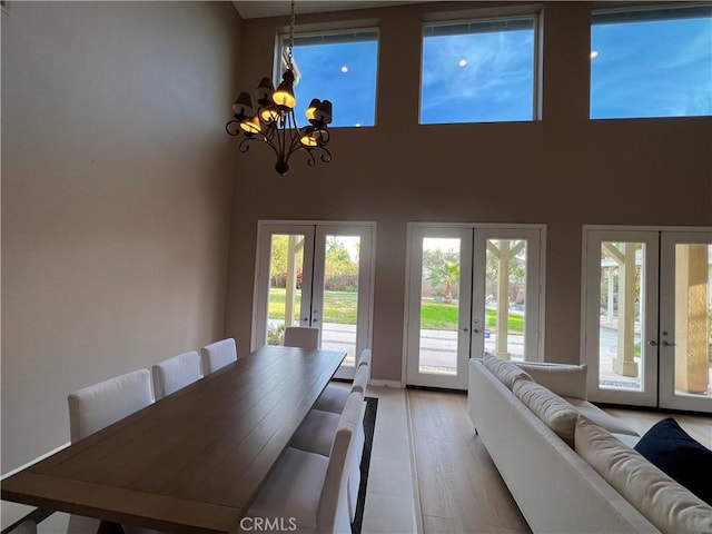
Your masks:
[[[591,118],[712,115],[712,18],[591,28]]]

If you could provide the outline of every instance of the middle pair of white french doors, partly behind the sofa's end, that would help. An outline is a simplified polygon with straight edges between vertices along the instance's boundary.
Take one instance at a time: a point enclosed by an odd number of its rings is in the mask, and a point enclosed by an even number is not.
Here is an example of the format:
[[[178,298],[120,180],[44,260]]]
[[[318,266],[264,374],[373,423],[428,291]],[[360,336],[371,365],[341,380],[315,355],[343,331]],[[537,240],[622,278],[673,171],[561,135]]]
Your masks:
[[[467,362],[491,352],[540,359],[544,228],[408,226],[406,383],[467,388]]]

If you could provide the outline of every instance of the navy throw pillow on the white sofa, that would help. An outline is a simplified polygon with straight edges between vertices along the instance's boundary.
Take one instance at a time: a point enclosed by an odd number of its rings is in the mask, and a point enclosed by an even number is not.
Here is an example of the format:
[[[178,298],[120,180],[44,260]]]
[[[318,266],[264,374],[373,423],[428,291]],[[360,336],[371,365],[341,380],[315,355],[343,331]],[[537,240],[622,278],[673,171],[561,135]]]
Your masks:
[[[651,464],[712,504],[712,451],[694,441],[672,417],[656,423],[635,445]]]

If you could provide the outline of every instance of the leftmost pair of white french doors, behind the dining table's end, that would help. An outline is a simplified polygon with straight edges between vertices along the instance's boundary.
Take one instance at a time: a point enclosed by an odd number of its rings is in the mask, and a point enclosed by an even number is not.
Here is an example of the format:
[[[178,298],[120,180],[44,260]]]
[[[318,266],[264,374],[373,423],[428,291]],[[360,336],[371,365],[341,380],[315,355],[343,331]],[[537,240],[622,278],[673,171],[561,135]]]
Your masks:
[[[353,378],[370,346],[373,247],[373,224],[260,221],[253,349],[281,345],[287,326],[315,326],[322,348],[346,352],[336,376]]]

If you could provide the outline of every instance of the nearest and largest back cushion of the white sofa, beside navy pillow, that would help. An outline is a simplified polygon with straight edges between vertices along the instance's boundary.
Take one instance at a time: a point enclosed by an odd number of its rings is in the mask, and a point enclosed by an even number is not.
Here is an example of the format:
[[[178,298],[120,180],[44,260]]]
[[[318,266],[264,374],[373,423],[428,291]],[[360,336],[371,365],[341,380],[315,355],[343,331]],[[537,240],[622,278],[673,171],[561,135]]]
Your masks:
[[[575,451],[661,532],[712,532],[712,506],[583,415]]]

